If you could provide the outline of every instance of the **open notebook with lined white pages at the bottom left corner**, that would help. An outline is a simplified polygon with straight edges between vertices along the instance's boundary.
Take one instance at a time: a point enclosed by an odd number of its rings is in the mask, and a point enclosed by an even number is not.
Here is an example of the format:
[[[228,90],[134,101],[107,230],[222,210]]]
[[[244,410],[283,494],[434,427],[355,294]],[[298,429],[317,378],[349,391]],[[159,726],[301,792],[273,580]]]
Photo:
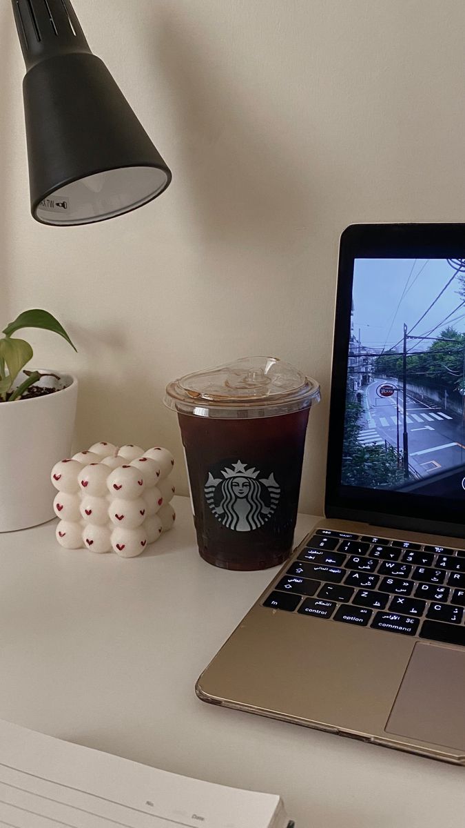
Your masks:
[[[0,720],[0,828],[290,828],[280,797],[148,768]]]

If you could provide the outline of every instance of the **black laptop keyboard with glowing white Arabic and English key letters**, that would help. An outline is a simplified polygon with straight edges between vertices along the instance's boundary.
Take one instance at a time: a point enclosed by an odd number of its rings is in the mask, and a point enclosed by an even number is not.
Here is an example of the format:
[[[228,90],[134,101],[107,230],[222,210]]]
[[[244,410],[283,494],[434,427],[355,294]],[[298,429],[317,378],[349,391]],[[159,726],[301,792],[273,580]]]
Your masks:
[[[316,529],[263,606],[465,647],[465,550]]]

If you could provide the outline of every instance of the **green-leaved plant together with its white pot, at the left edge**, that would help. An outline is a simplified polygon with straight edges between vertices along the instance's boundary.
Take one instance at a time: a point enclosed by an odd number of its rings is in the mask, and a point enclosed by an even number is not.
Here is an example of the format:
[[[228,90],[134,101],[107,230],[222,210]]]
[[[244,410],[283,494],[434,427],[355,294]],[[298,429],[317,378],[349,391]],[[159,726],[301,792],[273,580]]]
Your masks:
[[[51,330],[74,348],[46,310],[25,310],[0,335],[0,532],[54,517],[50,469],[70,454],[78,394],[70,374],[25,369],[33,351],[14,336],[22,328]]]

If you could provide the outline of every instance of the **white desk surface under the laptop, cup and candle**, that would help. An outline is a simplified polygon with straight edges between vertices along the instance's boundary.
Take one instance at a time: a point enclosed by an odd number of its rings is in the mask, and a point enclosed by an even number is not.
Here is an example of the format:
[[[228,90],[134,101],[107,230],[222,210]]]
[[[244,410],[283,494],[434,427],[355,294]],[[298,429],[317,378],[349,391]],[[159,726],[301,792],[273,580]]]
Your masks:
[[[297,828],[461,828],[461,768],[197,699],[200,672],[276,570],[209,566],[189,500],[174,505],[175,529],[132,560],[62,550],[55,522],[0,535],[0,718],[280,793]],[[296,540],[312,521],[299,517]]]

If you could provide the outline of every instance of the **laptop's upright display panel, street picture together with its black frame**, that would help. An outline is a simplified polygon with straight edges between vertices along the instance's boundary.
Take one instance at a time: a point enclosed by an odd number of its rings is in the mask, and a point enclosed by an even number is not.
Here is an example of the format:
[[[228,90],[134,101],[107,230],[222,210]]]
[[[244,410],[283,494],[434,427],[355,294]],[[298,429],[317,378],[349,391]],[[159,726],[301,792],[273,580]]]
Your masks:
[[[436,245],[431,228],[442,234]],[[465,257],[465,226],[348,230],[339,262],[328,517],[349,516],[336,504],[460,522],[465,532],[465,258],[457,255]]]

